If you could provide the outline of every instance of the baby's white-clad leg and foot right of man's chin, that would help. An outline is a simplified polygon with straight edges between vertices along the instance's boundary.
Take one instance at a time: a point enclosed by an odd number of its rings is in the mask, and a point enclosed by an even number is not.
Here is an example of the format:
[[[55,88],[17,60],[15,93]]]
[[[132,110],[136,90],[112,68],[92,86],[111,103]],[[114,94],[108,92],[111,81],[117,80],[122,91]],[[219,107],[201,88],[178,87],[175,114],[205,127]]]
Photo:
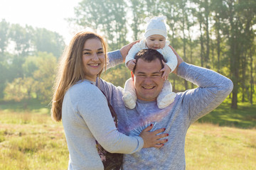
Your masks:
[[[176,93],[172,92],[170,81],[166,80],[164,81],[163,89],[161,89],[159,96],[156,98],[157,106],[159,106],[159,108],[166,108],[174,102],[175,97]]]

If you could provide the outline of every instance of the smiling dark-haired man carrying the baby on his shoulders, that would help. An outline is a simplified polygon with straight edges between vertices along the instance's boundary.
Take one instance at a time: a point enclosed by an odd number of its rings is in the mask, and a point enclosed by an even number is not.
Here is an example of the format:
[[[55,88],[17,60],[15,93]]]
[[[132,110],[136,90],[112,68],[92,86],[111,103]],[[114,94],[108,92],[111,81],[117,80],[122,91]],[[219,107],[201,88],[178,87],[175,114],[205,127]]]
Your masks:
[[[186,169],[184,147],[189,126],[219,106],[233,89],[230,79],[210,69],[187,64],[175,50],[174,53],[178,60],[174,74],[191,81],[198,88],[177,93],[174,102],[164,109],[156,105],[156,97],[164,84],[160,72],[163,56],[156,50],[141,50],[135,56],[137,62],[132,81],[137,93],[136,108],[125,108],[122,88],[100,81],[100,89],[117,113],[119,132],[139,135],[152,123],[153,130],[166,128],[165,132],[169,133],[168,142],[161,149],[146,148],[134,154],[125,154],[124,169]],[[111,64],[112,53],[108,55]]]

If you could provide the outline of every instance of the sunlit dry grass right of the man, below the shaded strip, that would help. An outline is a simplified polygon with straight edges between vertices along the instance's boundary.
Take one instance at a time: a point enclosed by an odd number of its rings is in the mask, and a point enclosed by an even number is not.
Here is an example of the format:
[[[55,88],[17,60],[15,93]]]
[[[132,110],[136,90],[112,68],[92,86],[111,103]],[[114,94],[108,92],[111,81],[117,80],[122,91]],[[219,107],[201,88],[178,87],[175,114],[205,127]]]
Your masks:
[[[256,130],[196,123],[188,130],[185,150],[188,170],[254,170]]]

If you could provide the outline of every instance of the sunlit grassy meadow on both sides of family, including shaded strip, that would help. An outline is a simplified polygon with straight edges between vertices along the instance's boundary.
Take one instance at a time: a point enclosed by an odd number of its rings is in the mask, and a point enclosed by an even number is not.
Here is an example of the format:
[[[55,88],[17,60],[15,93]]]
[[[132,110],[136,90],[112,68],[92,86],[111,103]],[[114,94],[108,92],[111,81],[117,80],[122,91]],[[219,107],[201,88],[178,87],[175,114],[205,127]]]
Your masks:
[[[11,109],[9,106],[12,106]],[[223,103],[191,125],[186,137],[186,169],[256,167],[255,107],[238,111]],[[213,124],[214,123],[214,124]],[[68,148],[61,123],[47,106],[0,103],[0,169],[67,169]]]

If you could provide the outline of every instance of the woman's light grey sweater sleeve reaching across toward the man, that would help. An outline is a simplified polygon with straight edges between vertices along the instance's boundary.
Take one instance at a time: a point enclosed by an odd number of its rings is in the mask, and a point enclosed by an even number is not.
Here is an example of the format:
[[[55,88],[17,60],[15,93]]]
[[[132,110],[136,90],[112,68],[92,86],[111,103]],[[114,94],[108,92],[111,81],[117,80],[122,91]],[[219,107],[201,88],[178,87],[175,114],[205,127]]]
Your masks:
[[[111,153],[124,154],[132,154],[142,149],[142,137],[129,137],[118,132],[106,98],[96,86],[85,89],[85,93],[82,93],[82,90],[84,89],[81,89],[81,94],[87,97],[80,98],[77,111],[103,148]]]

